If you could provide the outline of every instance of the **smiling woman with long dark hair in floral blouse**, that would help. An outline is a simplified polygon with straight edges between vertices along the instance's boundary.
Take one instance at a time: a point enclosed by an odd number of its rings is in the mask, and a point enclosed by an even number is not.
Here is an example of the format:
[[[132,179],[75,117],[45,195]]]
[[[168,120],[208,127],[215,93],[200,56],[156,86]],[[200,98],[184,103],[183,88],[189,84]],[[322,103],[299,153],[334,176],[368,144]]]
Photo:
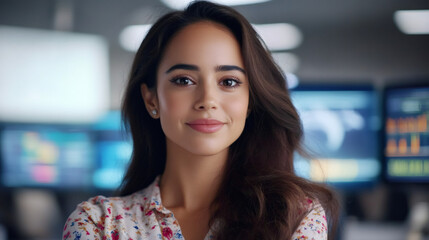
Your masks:
[[[336,201],[294,174],[302,129],[286,89],[233,9],[195,2],[159,19],[125,92],[121,196],[81,203],[63,239],[326,239]]]

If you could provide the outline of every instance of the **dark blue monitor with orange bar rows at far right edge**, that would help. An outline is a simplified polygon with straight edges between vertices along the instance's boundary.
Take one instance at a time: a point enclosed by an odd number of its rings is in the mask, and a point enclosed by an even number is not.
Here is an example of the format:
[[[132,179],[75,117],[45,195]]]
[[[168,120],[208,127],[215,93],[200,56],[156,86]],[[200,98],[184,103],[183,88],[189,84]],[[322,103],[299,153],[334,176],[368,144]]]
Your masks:
[[[429,86],[387,88],[384,96],[387,179],[429,182]]]

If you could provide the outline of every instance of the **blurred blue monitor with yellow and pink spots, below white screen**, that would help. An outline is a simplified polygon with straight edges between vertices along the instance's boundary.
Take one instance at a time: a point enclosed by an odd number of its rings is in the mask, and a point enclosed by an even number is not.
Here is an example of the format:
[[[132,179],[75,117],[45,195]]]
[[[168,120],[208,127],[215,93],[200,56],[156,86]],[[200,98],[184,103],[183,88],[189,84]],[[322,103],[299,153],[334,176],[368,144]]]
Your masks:
[[[6,187],[90,187],[91,135],[82,129],[6,126],[0,133]]]

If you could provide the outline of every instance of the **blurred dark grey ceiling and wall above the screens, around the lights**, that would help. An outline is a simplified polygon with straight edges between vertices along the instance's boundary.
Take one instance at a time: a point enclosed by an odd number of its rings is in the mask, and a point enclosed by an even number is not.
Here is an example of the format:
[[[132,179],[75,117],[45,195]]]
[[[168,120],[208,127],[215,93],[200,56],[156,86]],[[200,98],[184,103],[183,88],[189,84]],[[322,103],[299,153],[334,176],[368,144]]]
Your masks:
[[[303,43],[289,52],[299,58],[296,74],[303,82],[384,86],[429,79],[429,35],[402,34],[393,22],[395,10],[429,9],[427,0],[272,0],[235,8],[252,23],[287,22],[302,31]],[[168,11],[158,0],[0,0],[0,25],[105,37],[112,85],[122,89],[132,53],[119,46],[120,31],[152,23]],[[59,13],[68,17],[58,18]]]

